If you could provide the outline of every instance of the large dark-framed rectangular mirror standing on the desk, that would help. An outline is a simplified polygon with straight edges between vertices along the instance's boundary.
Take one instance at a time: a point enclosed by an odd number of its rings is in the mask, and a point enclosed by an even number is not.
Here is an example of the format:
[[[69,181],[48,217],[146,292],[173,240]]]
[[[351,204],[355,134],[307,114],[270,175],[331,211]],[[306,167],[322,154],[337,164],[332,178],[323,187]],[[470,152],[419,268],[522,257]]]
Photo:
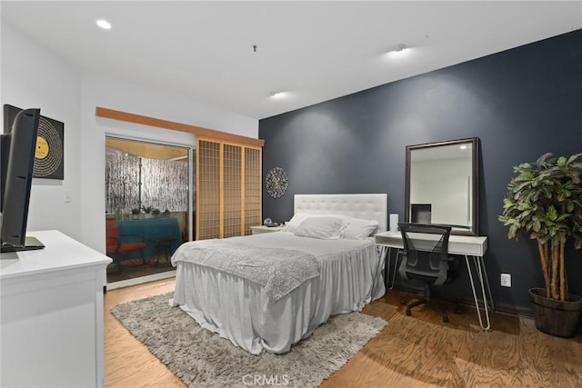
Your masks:
[[[478,235],[478,139],[406,146],[406,222]]]

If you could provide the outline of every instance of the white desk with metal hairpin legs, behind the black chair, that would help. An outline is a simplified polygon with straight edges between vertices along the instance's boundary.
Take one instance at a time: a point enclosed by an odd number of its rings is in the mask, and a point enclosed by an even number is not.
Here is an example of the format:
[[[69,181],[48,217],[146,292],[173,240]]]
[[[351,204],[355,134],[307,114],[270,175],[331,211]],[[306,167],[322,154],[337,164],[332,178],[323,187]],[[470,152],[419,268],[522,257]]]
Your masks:
[[[425,234],[426,238],[431,238],[430,234]],[[386,283],[386,289],[392,289],[396,281],[396,272],[398,265],[398,255],[396,252],[396,268],[392,278],[392,285],[388,286],[388,270],[390,267],[390,253],[392,248],[396,250],[401,250],[404,248],[402,243],[402,234],[400,232],[382,232],[376,234],[376,245],[380,248],[380,254],[384,259],[384,281]],[[487,251],[487,237],[479,236],[467,236],[467,235],[451,235],[448,239],[448,253],[458,254],[465,256],[465,262],[467,263],[467,273],[469,274],[469,280],[471,281],[471,288],[473,289],[473,297],[475,298],[475,306],[477,307],[477,317],[479,318],[479,324],[481,328],[485,331],[489,330],[491,327],[489,321],[489,308],[494,309],[493,298],[491,297],[491,289],[489,288],[489,281],[487,280],[487,271],[485,269],[485,262],[483,256]],[[471,272],[471,265],[469,257],[473,258],[473,264],[477,272],[477,277],[479,279],[479,286],[482,293],[482,303],[481,307],[479,300],[477,298],[477,289],[475,280],[473,278],[473,273]],[[487,288],[487,293],[486,293]],[[488,300],[487,300],[488,296]],[[481,315],[481,309],[485,311],[485,323]]]

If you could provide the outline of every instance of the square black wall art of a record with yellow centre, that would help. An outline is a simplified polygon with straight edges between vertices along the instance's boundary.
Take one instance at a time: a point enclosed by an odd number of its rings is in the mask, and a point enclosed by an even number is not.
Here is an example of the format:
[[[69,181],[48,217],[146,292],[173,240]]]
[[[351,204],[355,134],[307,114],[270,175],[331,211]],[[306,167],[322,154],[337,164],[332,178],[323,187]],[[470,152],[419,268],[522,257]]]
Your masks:
[[[22,109],[4,105],[5,131],[12,127],[15,116]],[[44,179],[65,179],[65,124],[52,118],[40,116],[38,136],[36,137],[35,167],[33,177]]]

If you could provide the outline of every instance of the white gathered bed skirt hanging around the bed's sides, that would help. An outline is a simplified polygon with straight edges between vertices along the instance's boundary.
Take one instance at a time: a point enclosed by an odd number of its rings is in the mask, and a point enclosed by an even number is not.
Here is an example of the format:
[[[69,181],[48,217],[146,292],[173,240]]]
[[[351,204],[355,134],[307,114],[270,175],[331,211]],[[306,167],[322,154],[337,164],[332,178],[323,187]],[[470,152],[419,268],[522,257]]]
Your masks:
[[[172,303],[249,353],[286,353],[331,315],[360,311],[386,292],[374,244],[320,264],[319,277],[272,303],[258,284],[178,262]]]

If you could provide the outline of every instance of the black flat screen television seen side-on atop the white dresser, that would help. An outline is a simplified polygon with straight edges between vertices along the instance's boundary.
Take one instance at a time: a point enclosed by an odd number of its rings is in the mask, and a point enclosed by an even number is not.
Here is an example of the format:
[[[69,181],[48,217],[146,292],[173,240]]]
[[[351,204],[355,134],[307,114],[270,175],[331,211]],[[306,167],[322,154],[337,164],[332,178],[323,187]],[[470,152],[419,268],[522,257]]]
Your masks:
[[[16,114],[12,127],[0,135],[0,252],[44,248],[34,237],[26,236],[28,204],[35,166],[35,146],[40,109]],[[7,129],[7,131],[6,131]]]

